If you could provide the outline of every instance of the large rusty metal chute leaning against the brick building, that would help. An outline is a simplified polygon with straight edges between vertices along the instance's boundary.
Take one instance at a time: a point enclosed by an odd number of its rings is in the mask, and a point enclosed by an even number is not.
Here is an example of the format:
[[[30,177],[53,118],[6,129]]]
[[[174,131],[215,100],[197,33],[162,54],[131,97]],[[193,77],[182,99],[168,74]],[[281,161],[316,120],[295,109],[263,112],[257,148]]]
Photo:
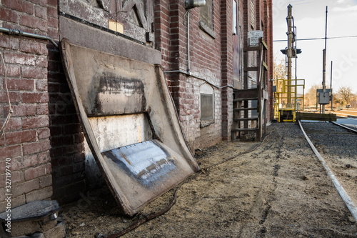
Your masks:
[[[61,53],[86,141],[125,214],[198,171],[161,66],[68,39]]]

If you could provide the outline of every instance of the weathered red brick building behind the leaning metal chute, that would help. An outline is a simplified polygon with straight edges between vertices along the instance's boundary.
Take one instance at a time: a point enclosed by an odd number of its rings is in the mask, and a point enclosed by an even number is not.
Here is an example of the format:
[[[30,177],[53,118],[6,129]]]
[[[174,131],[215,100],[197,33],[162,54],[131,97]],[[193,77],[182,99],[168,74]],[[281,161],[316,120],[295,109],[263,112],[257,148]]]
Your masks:
[[[183,0],[2,0],[1,127],[13,113],[0,140],[0,212],[6,158],[13,207],[36,199],[71,202],[100,181],[86,157],[59,49],[44,38],[161,64],[194,150],[231,139],[233,88],[256,84],[254,76],[246,85],[243,79],[248,31],[263,31],[272,79],[271,7],[271,0],[206,0],[189,10]],[[272,109],[270,99],[268,119]]]

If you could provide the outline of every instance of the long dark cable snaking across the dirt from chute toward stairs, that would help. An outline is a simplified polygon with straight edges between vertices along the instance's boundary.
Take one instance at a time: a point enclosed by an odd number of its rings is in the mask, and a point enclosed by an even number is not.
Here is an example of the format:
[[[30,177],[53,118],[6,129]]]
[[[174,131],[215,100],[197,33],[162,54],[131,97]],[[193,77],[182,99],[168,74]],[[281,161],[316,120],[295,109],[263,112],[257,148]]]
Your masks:
[[[199,170],[198,172],[196,172],[196,174],[193,174],[193,176],[188,177],[188,179],[186,179],[184,182],[181,182],[181,184],[179,184],[178,187],[176,187],[176,191],[174,192],[174,198],[172,199],[170,204],[168,206],[166,206],[164,209],[162,209],[160,212],[156,212],[156,213],[155,212],[151,212],[148,215],[141,214],[141,216],[144,217],[144,218],[139,219],[137,222],[135,222],[134,224],[131,224],[131,226],[129,226],[128,228],[122,230],[121,232],[118,232],[116,234],[110,234],[109,236],[106,236],[104,234],[99,234],[98,236],[96,236],[96,238],[117,238],[117,237],[121,237],[124,234],[127,234],[128,232],[131,232],[132,230],[134,230],[137,227],[141,226],[142,224],[144,224],[146,222],[149,222],[151,219],[155,219],[156,217],[160,217],[162,214],[165,214],[166,212],[169,212],[171,207],[173,207],[174,204],[176,203],[176,197],[177,197],[178,189],[181,189],[183,184],[187,184],[188,182],[191,182],[193,179],[196,179],[196,177],[198,177],[199,175],[204,174],[205,173],[204,171],[207,171],[208,169],[211,169],[212,167],[216,167],[219,164],[226,163],[226,162],[230,161],[231,159],[234,159],[234,158],[236,158],[238,156],[241,156],[243,154],[248,154],[250,152],[253,152],[255,149],[260,147],[265,142],[266,138],[268,138],[271,135],[272,132],[273,131],[271,131],[268,135],[266,135],[266,137],[264,137],[263,141],[261,143],[257,144],[252,149],[248,149],[245,152],[241,152],[241,153],[238,153],[236,155],[233,155],[232,157],[223,159],[221,162],[218,162],[216,164],[212,164],[211,166],[209,166],[209,167],[207,167],[205,169]]]

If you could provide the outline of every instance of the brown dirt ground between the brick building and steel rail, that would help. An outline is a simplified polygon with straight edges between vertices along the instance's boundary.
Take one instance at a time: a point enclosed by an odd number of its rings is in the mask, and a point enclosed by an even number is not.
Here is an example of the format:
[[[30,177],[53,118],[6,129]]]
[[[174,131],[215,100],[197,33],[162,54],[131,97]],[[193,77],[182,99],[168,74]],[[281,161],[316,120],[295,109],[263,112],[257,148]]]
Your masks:
[[[268,132],[253,152],[214,167],[259,143],[221,142],[196,151],[202,171],[181,186],[176,204],[124,237],[357,237],[355,219],[298,125],[273,123]],[[328,153],[328,147],[321,144],[318,150]],[[349,176],[343,186],[357,196],[357,149],[342,157],[333,172]],[[161,211],[173,197],[171,190],[142,213]],[[61,217],[68,237],[97,237],[120,232],[144,216],[119,214],[104,187],[63,207]]]

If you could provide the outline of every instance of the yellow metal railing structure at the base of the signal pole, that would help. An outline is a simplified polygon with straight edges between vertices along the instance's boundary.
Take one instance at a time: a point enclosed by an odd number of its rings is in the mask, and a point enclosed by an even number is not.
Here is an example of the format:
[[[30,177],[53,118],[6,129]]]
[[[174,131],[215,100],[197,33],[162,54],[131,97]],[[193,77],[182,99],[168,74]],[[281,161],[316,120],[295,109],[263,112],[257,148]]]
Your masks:
[[[274,92],[274,118],[295,122],[296,111],[303,111],[305,79],[277,79]]]

